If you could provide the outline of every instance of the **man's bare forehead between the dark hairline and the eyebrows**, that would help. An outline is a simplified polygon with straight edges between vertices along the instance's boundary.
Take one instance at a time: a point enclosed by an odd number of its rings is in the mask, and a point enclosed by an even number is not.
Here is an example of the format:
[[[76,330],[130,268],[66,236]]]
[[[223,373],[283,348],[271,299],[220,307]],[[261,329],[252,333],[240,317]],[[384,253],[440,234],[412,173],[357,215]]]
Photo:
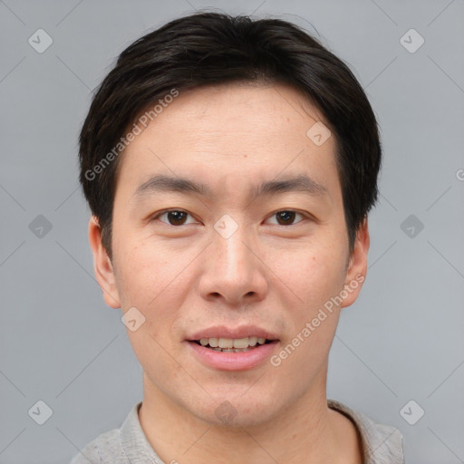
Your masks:
[[[179,92],[124,151],[118,186],[139,188],[156,173],[194,174],[217,180],[218,188],[227,183],[238,189],[247,179],[289,172],[330,184],[322,178],[335,173],[335,140],[318,146],[308,137],[318,121],[328,126],[320,111],[284,85],[234,83]]]

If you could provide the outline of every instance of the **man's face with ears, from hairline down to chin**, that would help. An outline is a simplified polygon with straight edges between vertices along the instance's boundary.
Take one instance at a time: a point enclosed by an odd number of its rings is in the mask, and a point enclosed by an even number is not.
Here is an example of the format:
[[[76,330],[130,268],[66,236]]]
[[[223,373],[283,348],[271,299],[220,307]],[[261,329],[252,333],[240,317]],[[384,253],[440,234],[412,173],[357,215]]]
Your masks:
[[[208,87],[180,92],[121,155],[112,262],[93,218],[90,239],[106,303],[136,320],[145,399],[247,426],[325,395],[369,239],[364,225],[349,254],[317,121],[283,85]]]

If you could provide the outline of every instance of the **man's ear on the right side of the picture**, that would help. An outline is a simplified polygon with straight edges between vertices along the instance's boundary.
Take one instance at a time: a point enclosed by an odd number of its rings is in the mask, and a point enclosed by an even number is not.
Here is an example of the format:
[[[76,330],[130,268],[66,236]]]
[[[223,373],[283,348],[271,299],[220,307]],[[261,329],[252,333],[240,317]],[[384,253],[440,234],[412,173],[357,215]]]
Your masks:
[[[356,232],[353,254],[348,263],[344,281],[344,289],[348,296],[343,298],[342,307],[353,304],[361,291],[367,274],[367,252],[369,251],[369,245],[369,228],[367,226],[367,218],[364,218],[362,226]]]

